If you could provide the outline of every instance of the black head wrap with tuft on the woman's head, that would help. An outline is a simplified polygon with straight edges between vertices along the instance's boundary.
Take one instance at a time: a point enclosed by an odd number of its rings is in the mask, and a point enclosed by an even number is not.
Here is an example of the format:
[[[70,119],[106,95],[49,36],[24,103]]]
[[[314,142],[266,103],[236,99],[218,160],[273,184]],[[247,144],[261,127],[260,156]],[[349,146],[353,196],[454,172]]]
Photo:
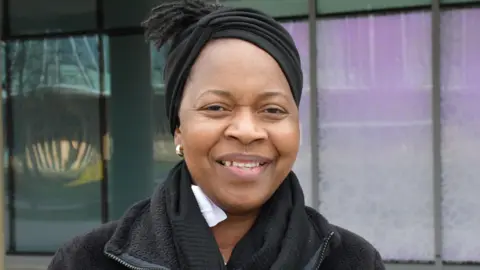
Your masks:
[[[270,16],[198,0],[166,1],[152,13],[144,23],[148,39],[160,48],[173,37],[165,67],[165,106],[172,134],[180,124],[178,111],[190,70],[205,45],[214,39],[241,39],[269,53],[283,70],[299,105],[303,86],[300,56],[290,34]]]

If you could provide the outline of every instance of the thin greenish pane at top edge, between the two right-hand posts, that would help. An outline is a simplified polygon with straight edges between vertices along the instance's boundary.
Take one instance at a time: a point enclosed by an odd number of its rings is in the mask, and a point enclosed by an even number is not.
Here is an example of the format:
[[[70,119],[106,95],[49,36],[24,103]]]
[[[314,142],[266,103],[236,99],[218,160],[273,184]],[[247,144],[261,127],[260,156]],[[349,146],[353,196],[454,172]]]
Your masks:
[[[430,5],[431,0],[317,0],[317,12],[319,14],[332,14],[418,6],[425,6],[428,8]]]

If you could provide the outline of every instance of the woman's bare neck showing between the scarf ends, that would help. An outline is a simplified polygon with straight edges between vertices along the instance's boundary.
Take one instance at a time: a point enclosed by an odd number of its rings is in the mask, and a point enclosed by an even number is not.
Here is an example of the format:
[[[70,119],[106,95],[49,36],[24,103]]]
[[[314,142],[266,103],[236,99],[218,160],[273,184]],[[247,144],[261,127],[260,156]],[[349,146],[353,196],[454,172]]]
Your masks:
[[[213,235],[225,262],[230,259],[232,251],[240,239],[253,226],[259,212],[260,210],[241,216],[228,214],[225,221],[212,228]]]

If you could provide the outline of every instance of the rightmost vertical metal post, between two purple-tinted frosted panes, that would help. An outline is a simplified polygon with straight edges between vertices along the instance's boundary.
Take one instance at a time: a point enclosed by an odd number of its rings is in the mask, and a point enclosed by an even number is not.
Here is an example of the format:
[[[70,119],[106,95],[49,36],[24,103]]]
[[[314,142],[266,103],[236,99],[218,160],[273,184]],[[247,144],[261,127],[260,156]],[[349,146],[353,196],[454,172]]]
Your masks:
[[[432,0],[432,149],[435,264],[442,269],[442,122],[441,122],[441,14],[440,1]]]

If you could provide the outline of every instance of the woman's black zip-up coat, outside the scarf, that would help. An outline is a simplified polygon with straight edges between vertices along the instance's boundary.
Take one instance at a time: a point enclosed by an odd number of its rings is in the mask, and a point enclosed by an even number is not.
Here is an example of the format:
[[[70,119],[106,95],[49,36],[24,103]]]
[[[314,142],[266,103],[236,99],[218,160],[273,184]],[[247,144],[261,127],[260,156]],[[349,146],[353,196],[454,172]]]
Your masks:
[[[174,247],[159,246],[170,238],[168,231],[153,232],[154,223],[166,221],[149,210],[150,199],[137,203],[119,221],[102,225],[65,244],[55,254],[50,270],[174,270],[168,262]],[[360,236],[331,225],[315,210],[306,207],[311,237],[322,243],[305,270],[382,270],[377,250]],[[168,241],[165,241],[168,242]],[[161,261],[160,263],[157,263]],[[152,263],[153,262],[153,263]]]

